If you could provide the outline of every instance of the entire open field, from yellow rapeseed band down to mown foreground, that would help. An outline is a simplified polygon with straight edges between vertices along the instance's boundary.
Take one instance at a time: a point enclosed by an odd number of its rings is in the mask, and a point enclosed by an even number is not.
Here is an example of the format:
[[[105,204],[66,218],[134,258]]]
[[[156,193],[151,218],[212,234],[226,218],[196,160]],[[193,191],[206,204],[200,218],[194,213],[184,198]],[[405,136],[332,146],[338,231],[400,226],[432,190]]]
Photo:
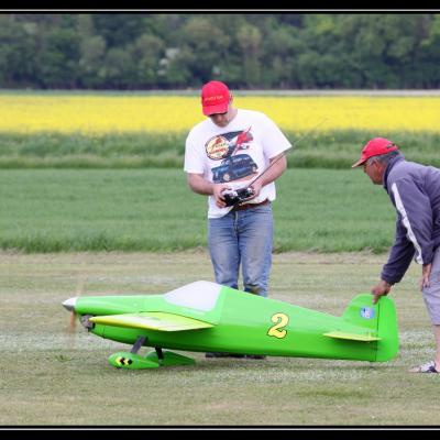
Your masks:
[[[440,97],[240,97],[290,141],[277,180],[271,296],[340,316],[377,282],[395,210],[350,165],[374,136],[440,166]],[[183,172],[194,96],[0,91],[0,426],[436,426],[438,377],[420,268],[394,288],[393,361],[205,359],[119,371],[128,349],[77,328],[65,299],[212,280],[207,200]],[[62,169],[63,168],[63,169]],[[338,169],[337,169],[338,168]],[[144,349],[143,349],[144,350]]]

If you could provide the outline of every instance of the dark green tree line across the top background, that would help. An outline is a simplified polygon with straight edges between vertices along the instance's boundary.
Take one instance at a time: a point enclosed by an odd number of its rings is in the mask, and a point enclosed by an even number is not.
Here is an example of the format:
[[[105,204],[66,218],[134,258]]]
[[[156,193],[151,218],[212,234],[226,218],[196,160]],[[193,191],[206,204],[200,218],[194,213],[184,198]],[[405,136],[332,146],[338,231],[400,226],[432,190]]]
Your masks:
[[[9,13],[0,88],[429,89],[436,13]]]

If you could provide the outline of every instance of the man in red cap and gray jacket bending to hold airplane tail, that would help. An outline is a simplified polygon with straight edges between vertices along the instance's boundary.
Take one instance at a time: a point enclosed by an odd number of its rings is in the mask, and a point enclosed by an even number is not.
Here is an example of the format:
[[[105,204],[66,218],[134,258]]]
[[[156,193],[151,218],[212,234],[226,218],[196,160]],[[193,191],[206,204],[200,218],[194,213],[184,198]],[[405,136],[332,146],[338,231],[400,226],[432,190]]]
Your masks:
[[[397,145],[384,138],[366,143],[352,168],[363,166],[373,184],[383,185],[397,210],[396,237],[373,302],[400,282],[411,263],[420,264],[424,294],[436,338],[436,359],[417,373],[440,373],[440,169],[405,161]]]

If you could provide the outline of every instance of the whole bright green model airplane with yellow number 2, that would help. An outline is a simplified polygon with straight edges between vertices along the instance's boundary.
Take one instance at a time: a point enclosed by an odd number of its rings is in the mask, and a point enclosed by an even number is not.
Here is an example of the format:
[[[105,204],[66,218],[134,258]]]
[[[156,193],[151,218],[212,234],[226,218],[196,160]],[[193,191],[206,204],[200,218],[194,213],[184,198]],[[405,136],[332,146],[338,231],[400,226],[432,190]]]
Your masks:
[[[90,332],[133,344],[109,358],[116,367],[190,365],[169,350],[384,362],[398,351],[394,302],[353,298],[342,317],[195,282],[165,295],[70,298],[63,306]],[[145,356],[141,346],[152,346]]]

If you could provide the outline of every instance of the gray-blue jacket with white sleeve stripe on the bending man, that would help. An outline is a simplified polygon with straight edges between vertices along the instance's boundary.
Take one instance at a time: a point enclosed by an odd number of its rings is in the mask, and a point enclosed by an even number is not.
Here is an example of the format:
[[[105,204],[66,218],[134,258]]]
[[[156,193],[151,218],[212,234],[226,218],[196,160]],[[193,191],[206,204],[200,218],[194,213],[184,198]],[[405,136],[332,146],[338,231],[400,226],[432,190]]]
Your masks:
[[[393,157],[384,174],[384,188],[397,210],[396,238],[381,277],[391,284],[405,275],[414,256],[432,262],[440,245],[440,169]]]

